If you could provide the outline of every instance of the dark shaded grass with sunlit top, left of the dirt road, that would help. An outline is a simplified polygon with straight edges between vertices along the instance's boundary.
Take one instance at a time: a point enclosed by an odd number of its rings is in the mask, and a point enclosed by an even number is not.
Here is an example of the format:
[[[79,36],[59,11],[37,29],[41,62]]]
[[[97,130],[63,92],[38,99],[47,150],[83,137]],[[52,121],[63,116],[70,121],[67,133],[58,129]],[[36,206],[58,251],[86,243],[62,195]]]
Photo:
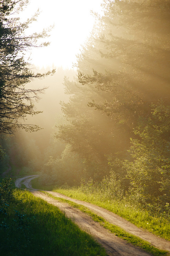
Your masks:
[[[0,214],[0,255],[106,255],[90,235],[57,207],[29,191],[14,190],[14,198],[5,205],[5,211]]]

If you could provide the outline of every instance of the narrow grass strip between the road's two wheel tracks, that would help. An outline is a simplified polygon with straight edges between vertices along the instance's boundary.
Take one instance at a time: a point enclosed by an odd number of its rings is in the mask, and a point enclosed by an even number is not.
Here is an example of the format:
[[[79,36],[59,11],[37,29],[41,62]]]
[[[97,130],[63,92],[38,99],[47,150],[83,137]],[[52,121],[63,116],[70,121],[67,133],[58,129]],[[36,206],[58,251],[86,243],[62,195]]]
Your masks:
[[[149,252],[150,254],[152,254],[154,256],[169,255],[169,253],[167,251],[159,250],[159,249],[155,248],[154,246],[152,246],[149,242],[146,242],[143,239],[126,232],[125,230],[119,228],[118,226],[115,226],[115,225],[105,221],[104,218],[93,213],[85,206],[76,204],[75,202],[71,202],[70,200],[54,197],[45,191],[42,191],[42,192],[47,194],[51,198],[57,199],[58,201],[61,201],[61,202],[68,203],[70,206],[75,207],[84,213],[87,213],[89,216],[92,217],[92,219],[94,221],[99,222],[101,226],[103,226],[105,229],[110,230],[114,235],[120,237],[123,240],[126,240],[128,243],[131,243],[135,246],[140,247],[144,251]]]

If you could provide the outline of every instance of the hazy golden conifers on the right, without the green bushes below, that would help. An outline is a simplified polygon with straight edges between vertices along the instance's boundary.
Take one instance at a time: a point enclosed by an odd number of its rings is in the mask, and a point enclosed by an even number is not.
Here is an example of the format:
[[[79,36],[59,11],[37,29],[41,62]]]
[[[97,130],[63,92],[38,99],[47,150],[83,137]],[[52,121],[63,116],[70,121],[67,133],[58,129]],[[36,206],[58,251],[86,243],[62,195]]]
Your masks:
[[[130,138],[139,137],[139,117],[152,116],[152,102],[169,105],[169,10],[168,1],[105,0],[103,15],[94,13],[96,25],[77,56],[78,77],[64,81],[68,123],[56,133],[83,159],[87,180],[109,175],[107,156],[120,152],[123,159]],[[126,168],[116,168],[128,190]]]

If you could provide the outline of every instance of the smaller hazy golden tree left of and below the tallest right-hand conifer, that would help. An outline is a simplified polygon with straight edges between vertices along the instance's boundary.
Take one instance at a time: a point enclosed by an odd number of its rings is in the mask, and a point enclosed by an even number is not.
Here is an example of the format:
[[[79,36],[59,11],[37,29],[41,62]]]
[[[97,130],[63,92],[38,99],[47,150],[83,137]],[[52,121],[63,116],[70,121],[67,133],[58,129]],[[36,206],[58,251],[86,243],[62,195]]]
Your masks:
[[[112,125],[105,115],[88,107],[92,97],[100,99],[98,91],[92,87],[82,87],[75,79],[70,82],[65,79],[65,88],[70,93],[68,103],[62,103],[67,122],[58,126],[55,138],[70,147],[71,152],[77,155],[75,162],[81,164],[87,180],[101,179],[104,174],[109,174],[106,154],[115,152],[123,147],[119,135],[116,141],[120,146],[115,148],[112,136]],[[65,152],[66,153],[66,152]],[[69,158],[69,151],[67,152]]]

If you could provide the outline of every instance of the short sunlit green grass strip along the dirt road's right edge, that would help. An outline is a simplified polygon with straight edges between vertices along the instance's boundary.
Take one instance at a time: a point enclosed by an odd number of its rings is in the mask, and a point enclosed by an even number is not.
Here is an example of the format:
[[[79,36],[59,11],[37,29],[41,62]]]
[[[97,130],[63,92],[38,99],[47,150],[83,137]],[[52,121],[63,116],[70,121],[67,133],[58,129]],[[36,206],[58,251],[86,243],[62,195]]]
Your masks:
[[[86,201],[97,206],[101,206],[126,220],[132,222],[137,227],[143,228],[152,232],[155,235],[163,237],[170,241],[170,221],[165,217],[158,216],[156,213],[151,214],[150,212],[135,207],[126,201],[118,201],[116,199],[106,200],[102,198],[102,195],[84,193],[76,188],[72,189],[54,189],[54,192],[64,194],[68,197]]]

